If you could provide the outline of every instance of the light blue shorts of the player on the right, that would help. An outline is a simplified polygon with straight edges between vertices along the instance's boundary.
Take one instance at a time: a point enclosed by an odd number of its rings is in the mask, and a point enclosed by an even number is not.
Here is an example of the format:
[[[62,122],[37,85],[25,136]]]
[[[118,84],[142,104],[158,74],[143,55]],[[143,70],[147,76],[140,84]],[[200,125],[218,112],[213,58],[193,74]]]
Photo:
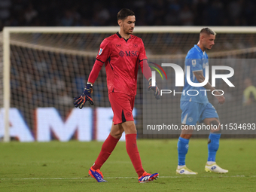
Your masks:
[[[196,125],[206,118],[218,118],[218,113],[211,103],[181,102],[181,123]]]

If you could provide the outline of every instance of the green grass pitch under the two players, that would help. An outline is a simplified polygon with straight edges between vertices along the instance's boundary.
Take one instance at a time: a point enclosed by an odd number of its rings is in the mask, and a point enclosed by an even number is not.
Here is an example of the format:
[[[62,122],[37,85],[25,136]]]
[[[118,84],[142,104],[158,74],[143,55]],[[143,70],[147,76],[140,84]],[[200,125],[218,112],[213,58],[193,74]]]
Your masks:
[[[102,142],[0,143],[0,191],[256,191],[256,140],[221,139],[217,163],[225,175],[204,171],[207,139],[190,139],[186,164],[198,175],[175,175],[177,139],[139,140],[142,165],[160,178],[139,184],[125,142],[102,166],[106,183],[87,176]]]

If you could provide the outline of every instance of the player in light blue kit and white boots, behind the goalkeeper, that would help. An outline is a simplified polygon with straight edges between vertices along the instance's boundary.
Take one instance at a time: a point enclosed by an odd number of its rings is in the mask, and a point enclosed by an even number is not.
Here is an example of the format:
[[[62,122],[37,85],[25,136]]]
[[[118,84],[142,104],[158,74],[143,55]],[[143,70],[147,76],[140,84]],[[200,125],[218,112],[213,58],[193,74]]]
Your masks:
[[[192,47],[185,59],[185,73],[187,75],[187,66],[190,66],[190,81],[192,83],[203,83],[206,77],[206,67],[209,66],[208,56],[206,50],[210,50],[215,44],[216,33],[209,28],[203,28],[200,31],[200,40],[198,44]],[[190,90],[187,94],[187,90]],[[197,91],[198,92],[197,92]],[[193,172],[187,169],[185,165],[185,158],[188,150],[188,142],[192,136],[193,129],[197,122],[218,127],[217,130],[212,129],[209,134],[208,142],[208,160],[205,166],[206,172],[226,173],[226,169],[222,169],[215,163],[216,152],[218,151],[219,140],[221,137],[220,121],[218,114],[212,104],[208,101],[206,90],[215,90],[209,82],[203,87],[193,87],[188,84],[185,78],[183,93],[181,94],[181,123],[186,128],[181,131],[178,138],[178,167],[177,174],[194,175]],[[197,94],[198,93],[198,94]],[[197,96],[192,96],[197,95]],[[219,104],[225,102],[224,96],[215,90],[216,99]]]

